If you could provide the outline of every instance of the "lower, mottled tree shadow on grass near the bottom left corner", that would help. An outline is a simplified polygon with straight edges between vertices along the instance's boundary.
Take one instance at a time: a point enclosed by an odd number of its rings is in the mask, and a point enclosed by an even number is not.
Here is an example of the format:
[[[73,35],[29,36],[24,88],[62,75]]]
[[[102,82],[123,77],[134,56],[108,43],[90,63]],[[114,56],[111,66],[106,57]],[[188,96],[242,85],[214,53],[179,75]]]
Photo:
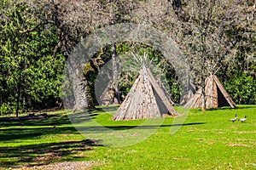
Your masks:
[[[0,147],[1,167],[31,167],[55,161],[84,159],[84,151],[91,146],[102,146],[90,139],[49,144],[31,144],[20,147]]]

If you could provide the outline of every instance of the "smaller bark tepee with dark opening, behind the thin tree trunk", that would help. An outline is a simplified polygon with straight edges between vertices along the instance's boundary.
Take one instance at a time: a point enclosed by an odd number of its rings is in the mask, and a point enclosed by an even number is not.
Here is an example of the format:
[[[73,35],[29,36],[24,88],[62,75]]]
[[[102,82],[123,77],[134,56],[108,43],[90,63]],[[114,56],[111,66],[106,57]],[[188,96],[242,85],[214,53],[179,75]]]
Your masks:
[[[188,103],[184,105],[186,108],[201,108],[202,105],[202,95],[201,88],[199,88],[194,96],[189,99]],[[206,107],[207,108],[218,108],[223,106],[230,106],[235,108],[236,104],[230,98],[230,95],[224,89],[224,86],[219,82],[218,77],[211,75],[207,77],[205,82],[205,92],[206,92]]]

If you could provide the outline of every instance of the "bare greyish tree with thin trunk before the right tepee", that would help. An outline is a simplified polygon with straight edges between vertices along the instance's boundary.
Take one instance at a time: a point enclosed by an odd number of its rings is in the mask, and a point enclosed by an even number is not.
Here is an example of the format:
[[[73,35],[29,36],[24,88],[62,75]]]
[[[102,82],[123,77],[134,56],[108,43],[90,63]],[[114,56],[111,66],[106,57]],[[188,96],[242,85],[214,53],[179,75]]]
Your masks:
[[[242,43],[249,42],[247,48],[253,48],[250,40],[240,38],[247,37],[248,31],[253,31],[252,26],[245,21],[246,9],[247,3],[240,1],[191,1],[188,8],[184,9],[187,11],[183,11],[183,15],[189,15],[189,31],[193,38],[185,37],[190,43],[189,54],[193,57],[188,59],[193,65],[191,68],[195,77],[201,75],[198,82],[202,87],[203,104],[205,78],[215,74],[222,66],[233,63],[237,51],[241,51]],[[205,105],[202,106],[204,110]]]

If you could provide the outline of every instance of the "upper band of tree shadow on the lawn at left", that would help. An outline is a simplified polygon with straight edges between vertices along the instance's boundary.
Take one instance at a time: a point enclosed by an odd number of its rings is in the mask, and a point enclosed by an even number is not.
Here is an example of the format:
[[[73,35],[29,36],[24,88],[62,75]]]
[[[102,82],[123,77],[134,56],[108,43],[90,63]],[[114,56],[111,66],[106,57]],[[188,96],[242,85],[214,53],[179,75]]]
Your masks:
[[[79,133],[67,115],[48,116],[44,120],[0,122],[0,143],[15,139],[40,139],[49,134]]]

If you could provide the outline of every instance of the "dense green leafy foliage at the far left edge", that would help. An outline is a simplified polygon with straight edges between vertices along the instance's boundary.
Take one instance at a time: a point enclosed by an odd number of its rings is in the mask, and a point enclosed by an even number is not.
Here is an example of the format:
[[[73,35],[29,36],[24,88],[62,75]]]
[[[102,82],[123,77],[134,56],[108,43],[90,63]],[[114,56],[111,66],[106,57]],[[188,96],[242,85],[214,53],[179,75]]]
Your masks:
[[[0,112],[17,114],[56,106],[65,59],[53,56],[55,27],[35,26],[23,3],[6,6],[0,26]]]

